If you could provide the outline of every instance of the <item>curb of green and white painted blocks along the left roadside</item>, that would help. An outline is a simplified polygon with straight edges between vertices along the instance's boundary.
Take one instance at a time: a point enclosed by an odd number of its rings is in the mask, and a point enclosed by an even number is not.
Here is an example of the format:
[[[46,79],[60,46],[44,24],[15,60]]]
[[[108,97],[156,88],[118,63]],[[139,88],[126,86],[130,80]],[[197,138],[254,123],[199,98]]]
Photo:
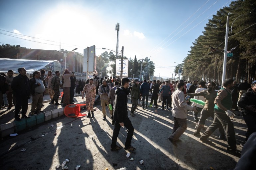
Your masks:
[[[80,96],[81,94],[78,94],[76,96]],[[45,100],[44,103],[49,102],[51,100]],[[77,102],[75,104],[85,104],[85,101]],[[84,108],[85,106],[81,106],[81,108]],[[36,125],[39,125],[41,123],[44,123],[46,121],[49,121],[51,119],[60,117],[64,115],[64,107],[59,109],[53,109],[51,111],[46,111],[44,113],[40,113],[38,115],[31,115],[29,119],[21,119],[21,121],[13,121],[8,122],[5,124],[0,125],[0,136],[6,137],[10,134],[20,132],[22,130],[25,130],[26,128],[33,127]]]

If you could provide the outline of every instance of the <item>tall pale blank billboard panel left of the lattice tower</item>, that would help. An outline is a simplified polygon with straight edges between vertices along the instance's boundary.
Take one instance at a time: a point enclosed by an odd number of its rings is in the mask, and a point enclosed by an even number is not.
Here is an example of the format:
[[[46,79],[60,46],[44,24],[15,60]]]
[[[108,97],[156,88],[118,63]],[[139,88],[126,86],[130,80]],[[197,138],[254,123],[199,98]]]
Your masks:
[[[95,45],[83,49],[83,72],[96,72]]]

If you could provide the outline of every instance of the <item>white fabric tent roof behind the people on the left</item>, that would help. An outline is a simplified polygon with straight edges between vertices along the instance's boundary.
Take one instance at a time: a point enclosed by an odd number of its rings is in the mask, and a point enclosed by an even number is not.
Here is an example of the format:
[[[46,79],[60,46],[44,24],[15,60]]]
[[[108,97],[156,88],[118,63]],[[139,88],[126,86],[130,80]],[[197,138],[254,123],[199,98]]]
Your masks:
[[[57,60],[24,60],[24,59],[10,59],[0,58],[0,72],[8,72],[13,70],[18,74],[18,68],[25,67],[27,74],[32,74],[35,71],[44,69],[45,71],[51,70],[53,74],[55,71],[63,72],[61,63]]]

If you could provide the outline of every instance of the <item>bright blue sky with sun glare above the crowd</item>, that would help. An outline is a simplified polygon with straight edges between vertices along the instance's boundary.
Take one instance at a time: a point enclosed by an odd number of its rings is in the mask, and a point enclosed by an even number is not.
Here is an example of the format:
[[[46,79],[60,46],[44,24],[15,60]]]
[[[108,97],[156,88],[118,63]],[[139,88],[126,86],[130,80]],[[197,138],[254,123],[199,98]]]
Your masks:
[[[0,42],[33,49],[83,53],[96,46],[96,55],[116,50],[115,25],[120,23],[119,52],[134,59],[149,57],[155,76],[172,77],[192,42],[204,31],[216,11],[230,0],[8,0],[0,2],[0,33],[16,32],[39,39],[0,34]],[[6,32],[6,31],[10,32]],[[15,36],[17,36],[16,34]],[[20,36],[20,35],[19,35]],[[225,36],[225,35],[223,35]],[[24,38],[24,37],[21,37]],[[46,41],[50,40],[50,41]],[[52,42],[54,41],[54,42]],[[1,44],[0,43],[0,44]],[[170,68],[161,68],[170,67]]]

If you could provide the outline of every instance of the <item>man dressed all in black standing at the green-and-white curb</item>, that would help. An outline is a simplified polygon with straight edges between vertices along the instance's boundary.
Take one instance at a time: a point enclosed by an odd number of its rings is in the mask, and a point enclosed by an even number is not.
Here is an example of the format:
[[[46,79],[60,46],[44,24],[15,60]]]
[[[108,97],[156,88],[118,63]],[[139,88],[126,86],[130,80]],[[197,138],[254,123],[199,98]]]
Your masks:
[[[29,116],[26,116],[26,113],[28,110],[28,99],[30,98],[30,81],[26,76],[27,71],[24,67],[18,68],[18,72],[20,74],[13,78],[11,88],[16,97],[14,118],[20,121],[19,113],[21,108],[21,118],[29,118]]]

